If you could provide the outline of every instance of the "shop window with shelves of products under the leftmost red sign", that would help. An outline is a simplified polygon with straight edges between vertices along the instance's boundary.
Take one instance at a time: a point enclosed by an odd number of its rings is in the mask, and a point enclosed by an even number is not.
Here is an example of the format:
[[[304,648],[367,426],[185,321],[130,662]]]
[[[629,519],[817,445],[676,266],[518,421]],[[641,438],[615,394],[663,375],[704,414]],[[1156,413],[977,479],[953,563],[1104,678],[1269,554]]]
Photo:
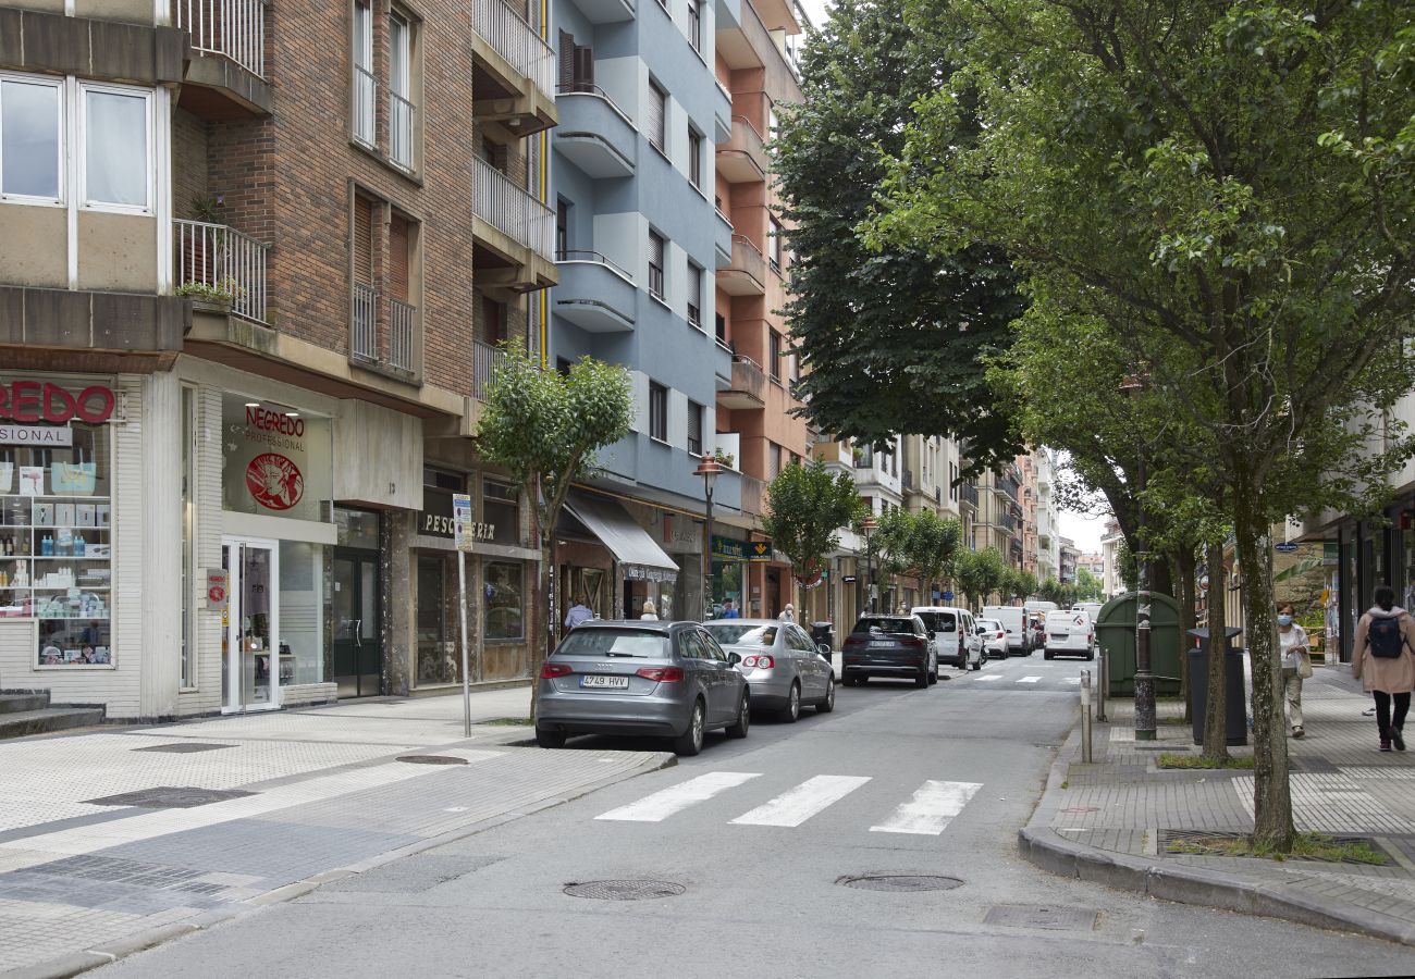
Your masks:
[[[109,427],[74,420],[31,433],[44,447],[0,444],[0,618],[40,621],[38,666],[109,666]]]

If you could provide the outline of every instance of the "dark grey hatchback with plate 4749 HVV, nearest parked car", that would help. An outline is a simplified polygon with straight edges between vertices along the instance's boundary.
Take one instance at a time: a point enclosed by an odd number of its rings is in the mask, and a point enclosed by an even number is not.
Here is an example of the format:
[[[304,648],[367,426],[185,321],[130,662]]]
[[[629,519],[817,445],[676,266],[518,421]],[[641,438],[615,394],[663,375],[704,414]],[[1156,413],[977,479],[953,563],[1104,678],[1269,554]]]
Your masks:
[[[651,734],[692,755],[705,731],[747,737],[751,692],[739,661],[698,622],[582,622],[541,668],[536,744],[559,748],[569,734]]]

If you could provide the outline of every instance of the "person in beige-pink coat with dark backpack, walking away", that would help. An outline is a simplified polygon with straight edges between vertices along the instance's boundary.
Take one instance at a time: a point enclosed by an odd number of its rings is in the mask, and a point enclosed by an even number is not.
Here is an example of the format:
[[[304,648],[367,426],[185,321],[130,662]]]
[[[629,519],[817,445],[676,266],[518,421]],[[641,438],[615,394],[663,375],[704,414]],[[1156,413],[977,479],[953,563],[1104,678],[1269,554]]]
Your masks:
[[[1405,750],[1405,714],[1415,690],[1415,618],[1395,604],[1395,590],[1377,586],[1375,604],[1356,624],[1351,676],[1375,697],[1381,751]],[[1395,712],[1391,712],[1391,703]]]

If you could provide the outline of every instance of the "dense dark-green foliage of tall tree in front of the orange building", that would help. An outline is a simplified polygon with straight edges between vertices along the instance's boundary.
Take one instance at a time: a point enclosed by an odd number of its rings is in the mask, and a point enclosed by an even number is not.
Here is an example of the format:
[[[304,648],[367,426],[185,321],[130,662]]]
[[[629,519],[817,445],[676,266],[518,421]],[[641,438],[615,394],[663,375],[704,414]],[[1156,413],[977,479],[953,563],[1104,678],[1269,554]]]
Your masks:
[[[904,6],[839,0],[807,44],[804,100],[784,108],[770,147],[794,225],[785,311],[814,424],[874,444],[947,431],[971,440],[981,470],[1020,451],[1010,403],[981,366],[1023,308],[1009,263],[983,246],[873,250],[856,232],[887,173],[880,150],[903,150],[914,100],[952,71],[948,48],[911,30]]]

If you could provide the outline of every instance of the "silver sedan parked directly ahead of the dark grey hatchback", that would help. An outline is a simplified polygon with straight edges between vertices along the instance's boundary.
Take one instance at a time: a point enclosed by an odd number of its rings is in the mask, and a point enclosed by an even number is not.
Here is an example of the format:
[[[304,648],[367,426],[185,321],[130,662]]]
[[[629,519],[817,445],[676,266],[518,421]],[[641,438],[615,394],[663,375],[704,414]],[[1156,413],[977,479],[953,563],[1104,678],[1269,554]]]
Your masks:
[[[801,705],[826,714],[835,710],[835,671],[831,647],[816,645],[807,631],[775,618],[726,618],[703,628],[729,655],[741,656],[737,669],[751,688],[751,706],[778,712],[794,724]]]

